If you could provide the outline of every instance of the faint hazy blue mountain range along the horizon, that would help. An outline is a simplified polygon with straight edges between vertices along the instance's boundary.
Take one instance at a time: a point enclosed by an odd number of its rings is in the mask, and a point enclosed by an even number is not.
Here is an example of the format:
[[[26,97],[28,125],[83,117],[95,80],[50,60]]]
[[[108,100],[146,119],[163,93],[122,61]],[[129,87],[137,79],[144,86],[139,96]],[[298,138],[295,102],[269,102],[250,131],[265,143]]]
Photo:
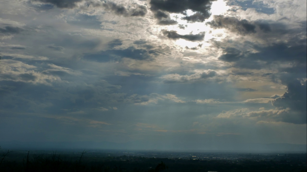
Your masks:
[[[0,141],[3,149],[133,149],[161,151],[225,151],[225,152],[307,152],[306,144],[226,144],[214,145],[159,145],[142,142],[20,142]]]

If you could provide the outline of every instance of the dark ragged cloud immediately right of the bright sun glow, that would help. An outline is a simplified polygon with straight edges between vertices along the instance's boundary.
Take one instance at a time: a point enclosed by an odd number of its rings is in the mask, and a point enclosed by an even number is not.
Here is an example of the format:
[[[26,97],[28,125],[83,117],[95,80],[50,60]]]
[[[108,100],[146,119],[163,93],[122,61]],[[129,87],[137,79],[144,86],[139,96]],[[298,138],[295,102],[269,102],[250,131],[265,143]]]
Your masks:
[[[256,25],[243,19],[239,20],[235,17],[225,17],[223,15],[214,16],[212,21],[207,22],[212,28],[227,28],[232,32],[240,34],[256,33]],[[270,31],[269,25],[261,25],[262,30]]]

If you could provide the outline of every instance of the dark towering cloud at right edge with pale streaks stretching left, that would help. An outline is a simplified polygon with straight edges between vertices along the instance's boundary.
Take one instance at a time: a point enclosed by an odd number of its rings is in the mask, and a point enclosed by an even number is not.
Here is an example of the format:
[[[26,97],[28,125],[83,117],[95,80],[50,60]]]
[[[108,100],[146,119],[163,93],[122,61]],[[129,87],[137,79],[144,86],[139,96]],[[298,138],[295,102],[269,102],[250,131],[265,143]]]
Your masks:
[[[257,118],[257,120],[277,122],[287,122],[293,124],[306,124],[306,82],[301,84],[298,80],[293,80],[287,85],[287,92],[276,99],[258,98],[247,99],[242,103],[269,103],[275,106],[275,109],[252,111],[248,108],[225,111],[219,114],[216,118]],[[274,96],[275,97],[275,96]],[[205,103],[215,103],[215,100]],[[200,102],[202,103],[202,102]],[[216,102],[217,103],[217,102]]]

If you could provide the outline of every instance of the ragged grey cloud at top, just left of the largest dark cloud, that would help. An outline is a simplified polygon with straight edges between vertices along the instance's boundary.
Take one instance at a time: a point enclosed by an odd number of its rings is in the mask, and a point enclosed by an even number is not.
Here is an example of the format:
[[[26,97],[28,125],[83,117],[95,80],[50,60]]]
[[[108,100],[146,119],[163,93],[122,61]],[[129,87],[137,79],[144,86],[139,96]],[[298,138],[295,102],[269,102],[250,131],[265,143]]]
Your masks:
[[[131,9],[126,9],[122,5],[118,5],[114,2],[106,2],[102,5],[106,10],[113,11],[117,15],[122,16],[145,16],[147,13],[147,7],[143,5],[135,4]]]

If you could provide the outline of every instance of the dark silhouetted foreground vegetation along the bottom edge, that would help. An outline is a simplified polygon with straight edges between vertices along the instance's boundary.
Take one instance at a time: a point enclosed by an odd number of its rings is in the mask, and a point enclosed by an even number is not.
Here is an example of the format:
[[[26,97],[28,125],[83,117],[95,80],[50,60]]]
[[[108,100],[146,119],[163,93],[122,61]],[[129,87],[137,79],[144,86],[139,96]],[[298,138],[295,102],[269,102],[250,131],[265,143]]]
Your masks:
[[[0,155],[1,172],[307,172],[298,161],[192,160],[140,156],[99,157],[83,151],[73,154],[31,154],[5,151]],[[304,160],[305,161],[305,160]]]

